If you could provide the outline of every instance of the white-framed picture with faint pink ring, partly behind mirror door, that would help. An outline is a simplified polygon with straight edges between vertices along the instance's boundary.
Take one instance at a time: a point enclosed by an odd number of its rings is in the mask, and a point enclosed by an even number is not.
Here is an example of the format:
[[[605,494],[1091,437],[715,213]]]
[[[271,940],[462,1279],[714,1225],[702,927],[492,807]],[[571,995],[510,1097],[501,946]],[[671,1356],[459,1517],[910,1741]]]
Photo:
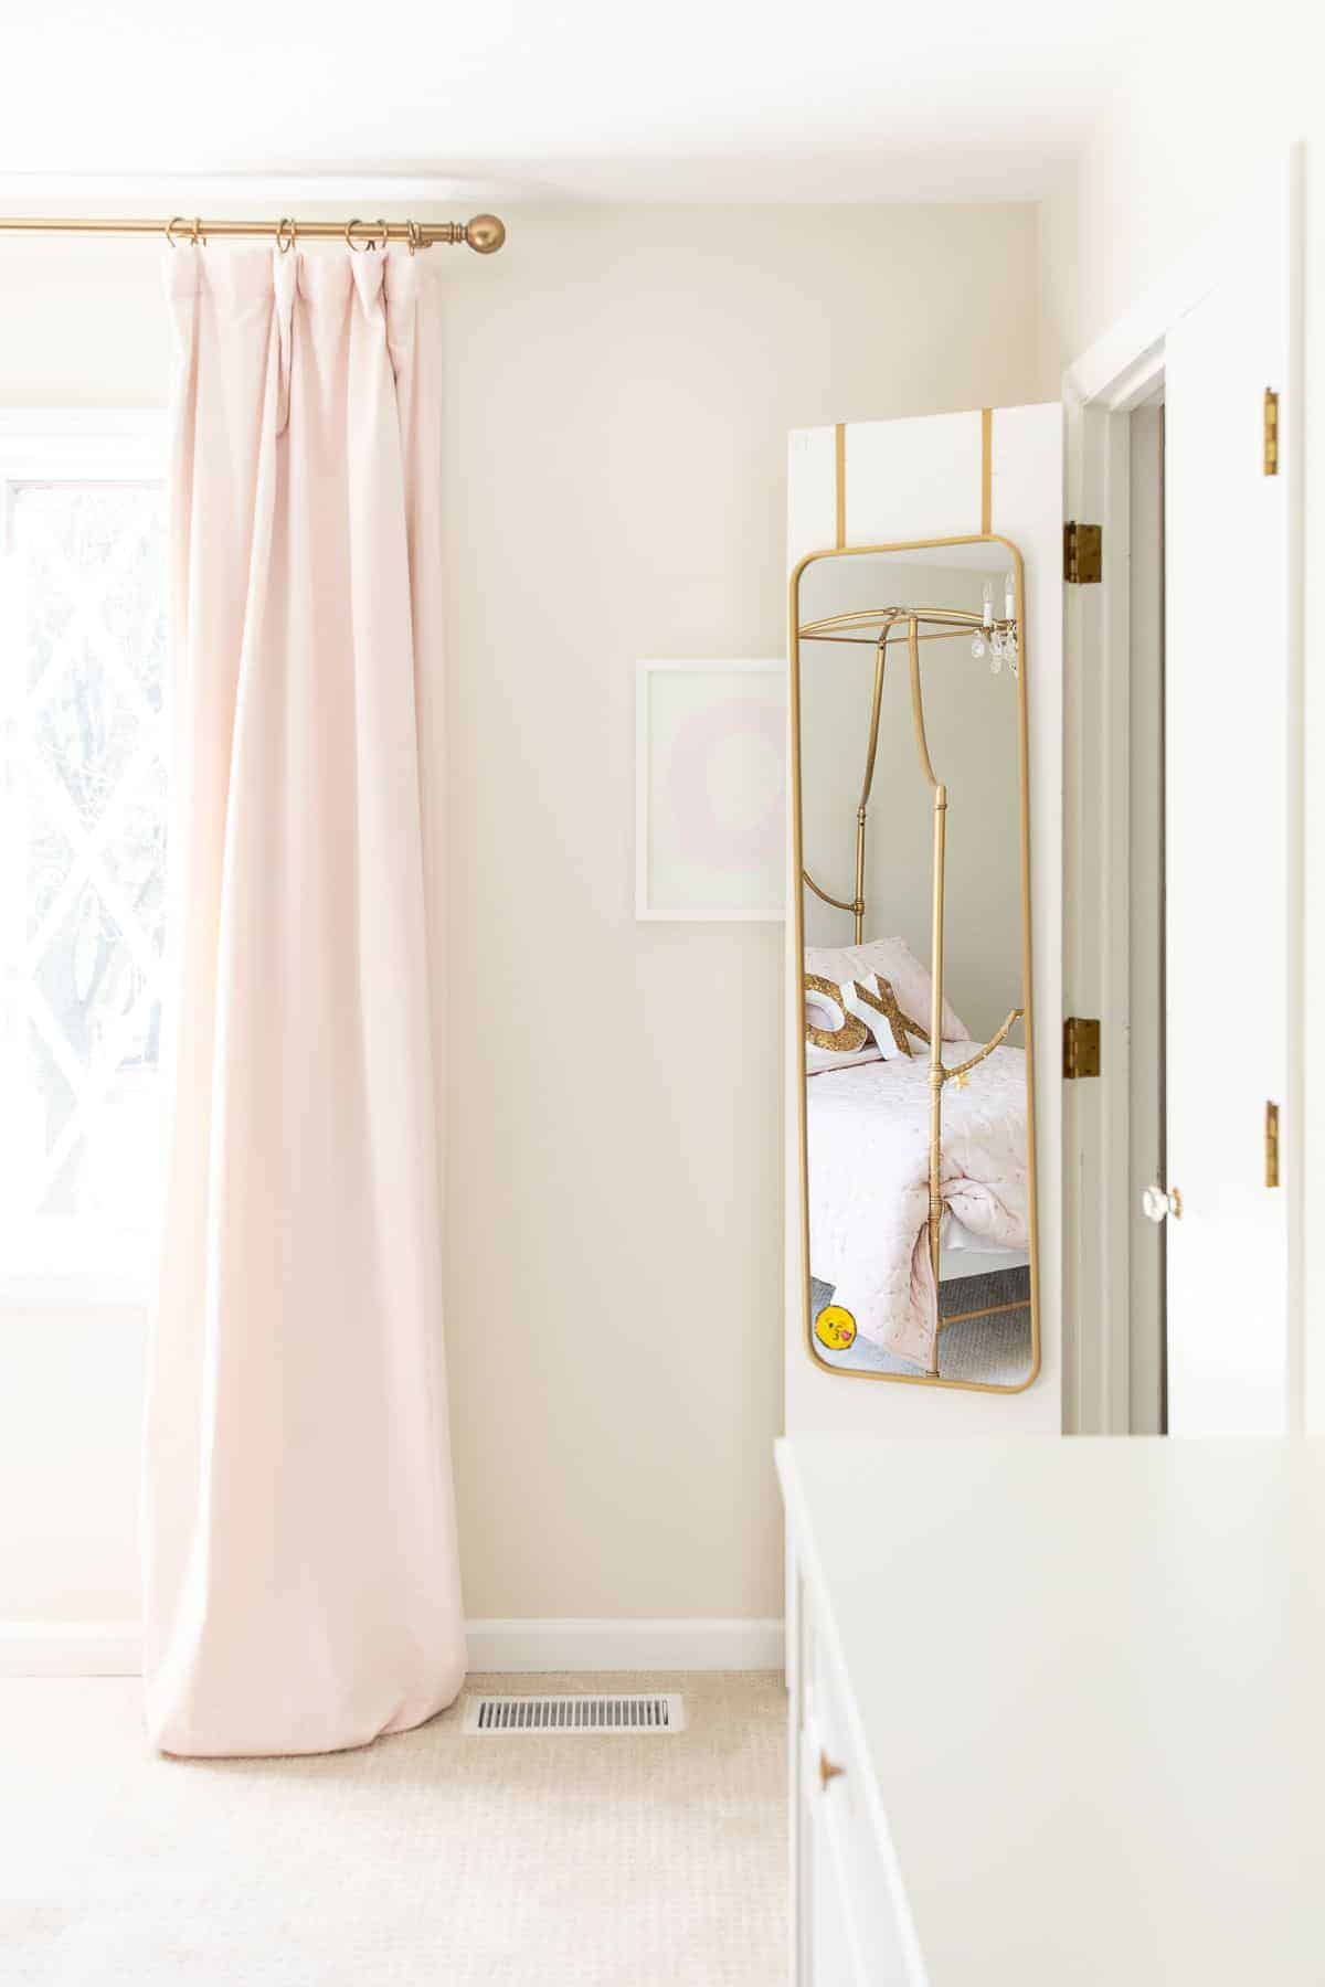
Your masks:
[[[636,664],[636,918],[787,916],[787,662]]]

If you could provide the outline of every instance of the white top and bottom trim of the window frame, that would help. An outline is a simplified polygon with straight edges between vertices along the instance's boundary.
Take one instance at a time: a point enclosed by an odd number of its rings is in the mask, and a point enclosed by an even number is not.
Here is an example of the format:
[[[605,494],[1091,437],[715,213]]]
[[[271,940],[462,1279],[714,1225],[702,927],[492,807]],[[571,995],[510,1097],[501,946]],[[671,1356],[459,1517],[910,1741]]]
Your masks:
[[[0,556],[12,483],[165,483],[165,475],[167,415],[161,407],[0,409]],[[0,1262],[0,1309],[147,1303],[153,1266],[147,1250],[141,1256],[125,1254],[91,1268]]]

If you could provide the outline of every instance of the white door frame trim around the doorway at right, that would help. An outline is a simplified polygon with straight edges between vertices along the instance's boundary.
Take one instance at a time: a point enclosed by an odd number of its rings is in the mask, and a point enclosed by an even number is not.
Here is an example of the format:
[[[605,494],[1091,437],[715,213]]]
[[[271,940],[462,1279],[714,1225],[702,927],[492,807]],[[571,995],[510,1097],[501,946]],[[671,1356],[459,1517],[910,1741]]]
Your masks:
[[[1303,1425],[1303,149],[1285,147],[1240,209],[1063,374],[1065,517],[1103,527],[1099,586],[1065,590],[1063,1005],[1099,1015],[1101,1075],[1065,1083],[1063,1429],[1130,1433],[1130,419],[1164,383],[1170,328],[1238,266],[1265,215],[1287,213],[1289,376],[1279,461],[1289,479],[1289,1071],[1281,1129],[1289,1226],[1289,1427]],[[1273,383],[1273,382],[1267,382]],[[1325,934],[1325,918],[1321,918]],[[1319,974],[1325,982],[1325,970]],[[1325,1278],[1325,1250],[1315,1270]]]

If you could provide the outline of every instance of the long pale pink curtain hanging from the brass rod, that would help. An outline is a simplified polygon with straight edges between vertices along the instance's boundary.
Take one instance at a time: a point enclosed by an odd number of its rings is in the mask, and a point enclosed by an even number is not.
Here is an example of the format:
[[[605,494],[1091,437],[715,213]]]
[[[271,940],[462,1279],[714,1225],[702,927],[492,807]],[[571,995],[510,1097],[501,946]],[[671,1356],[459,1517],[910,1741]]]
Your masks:
[[[179,248],[171,1143],[145,1451],[167,1753],[326,1753],[465,1673],[415,703],[427,256]]]

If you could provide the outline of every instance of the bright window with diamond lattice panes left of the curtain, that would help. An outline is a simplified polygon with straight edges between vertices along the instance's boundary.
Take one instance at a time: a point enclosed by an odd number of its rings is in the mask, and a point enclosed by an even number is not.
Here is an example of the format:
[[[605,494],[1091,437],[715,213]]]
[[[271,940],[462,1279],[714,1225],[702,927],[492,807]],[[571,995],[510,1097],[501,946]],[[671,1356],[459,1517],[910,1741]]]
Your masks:
[[[0,1278],[141,1282],[159,1194],[155,419],[0,427]],[[38,1292],[40,1294],[40,1292]]]

